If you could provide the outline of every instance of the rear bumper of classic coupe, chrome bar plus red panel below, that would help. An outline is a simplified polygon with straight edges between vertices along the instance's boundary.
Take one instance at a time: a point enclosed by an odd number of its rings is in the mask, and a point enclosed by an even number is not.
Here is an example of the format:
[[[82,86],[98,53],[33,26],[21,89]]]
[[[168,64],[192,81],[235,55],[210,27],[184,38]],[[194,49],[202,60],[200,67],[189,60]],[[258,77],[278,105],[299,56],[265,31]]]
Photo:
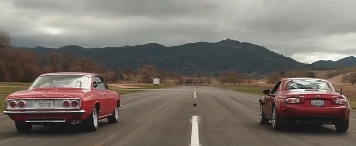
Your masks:
[[[72,122],[75,120],[85,120],[89,115],[85,110],[52,110],[52,111],[4,111],[14,121],[23,121],[31,123],[58,123]]]

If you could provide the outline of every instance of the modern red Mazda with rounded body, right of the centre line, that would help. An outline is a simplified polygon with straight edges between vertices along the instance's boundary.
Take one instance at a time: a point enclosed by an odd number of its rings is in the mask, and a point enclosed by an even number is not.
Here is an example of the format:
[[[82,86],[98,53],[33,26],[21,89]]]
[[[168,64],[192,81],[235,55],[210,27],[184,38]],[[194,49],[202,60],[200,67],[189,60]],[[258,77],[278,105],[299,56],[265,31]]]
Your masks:
[[[273,130],[290,124],[335,125],[337,132],[349,128],[350,105],[333,85],[318,78],[284,78],[259,99],[260,123],[272,121]]]

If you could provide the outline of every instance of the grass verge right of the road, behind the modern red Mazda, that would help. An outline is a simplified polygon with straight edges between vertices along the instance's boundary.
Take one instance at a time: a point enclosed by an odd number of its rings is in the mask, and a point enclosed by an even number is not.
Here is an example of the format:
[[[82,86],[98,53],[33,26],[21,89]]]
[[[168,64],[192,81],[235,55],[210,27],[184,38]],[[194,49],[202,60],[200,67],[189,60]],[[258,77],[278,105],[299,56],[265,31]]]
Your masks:
[[[220,88],[225,88],[225,89],[230,89],[234,91],[242,91],[246,93],[252,93],[252,94],[259,94],[263,95],[262,91],[264,89],[269,89],[271,90],[273,85],[221,85],[221,84],[215,84],[213,85],[215,87],[220,87]],[[341,87],[335,85],[334,86],[335,90],[340,91]],[[348,98],[350,102],[350,107],[356,111],[356,86],[343,86],[342,93]]]

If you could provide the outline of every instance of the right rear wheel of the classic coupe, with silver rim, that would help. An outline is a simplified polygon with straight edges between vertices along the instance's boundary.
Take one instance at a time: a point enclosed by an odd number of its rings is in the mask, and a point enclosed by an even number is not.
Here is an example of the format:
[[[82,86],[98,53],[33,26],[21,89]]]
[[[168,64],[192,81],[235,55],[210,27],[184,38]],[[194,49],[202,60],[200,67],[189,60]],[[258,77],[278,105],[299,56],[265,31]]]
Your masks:
[[[83,128],[88,132],[95,132],[99,127],[99,118],[98,118],[98,110],[96,106],[94,106],[92,112],[90,113],[88,119],[84,120]]]

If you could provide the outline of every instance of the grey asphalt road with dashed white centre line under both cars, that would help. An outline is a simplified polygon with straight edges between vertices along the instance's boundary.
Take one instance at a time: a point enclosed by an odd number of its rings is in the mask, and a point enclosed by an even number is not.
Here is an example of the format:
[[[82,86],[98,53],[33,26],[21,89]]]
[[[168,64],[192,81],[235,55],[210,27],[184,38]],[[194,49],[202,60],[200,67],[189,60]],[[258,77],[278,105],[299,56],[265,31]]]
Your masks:
[[[0,115],[0,146],[355,146],[356,116],[347,133],[334,126],[273,131],[259,124],[258,98],[213,87],[183,86],[122,97],[117,124],[101,120],[97,132],[35,126],[19,134]],[[194,98],[196,97],[196,98]],[[197,104],[196,107],[193,104]]]

